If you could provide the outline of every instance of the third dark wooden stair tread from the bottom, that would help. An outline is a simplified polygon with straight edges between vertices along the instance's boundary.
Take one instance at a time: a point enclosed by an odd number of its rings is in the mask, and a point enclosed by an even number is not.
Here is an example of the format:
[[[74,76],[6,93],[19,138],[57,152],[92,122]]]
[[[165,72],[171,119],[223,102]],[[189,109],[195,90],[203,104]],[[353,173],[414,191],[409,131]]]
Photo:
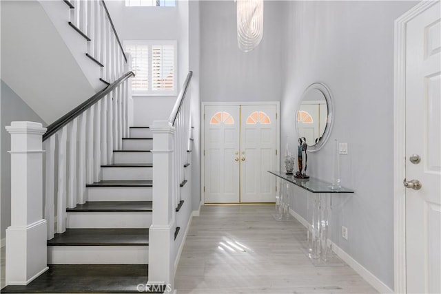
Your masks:
[[[152,201],[92,201],[78,204],[68,212],[149,212]]]

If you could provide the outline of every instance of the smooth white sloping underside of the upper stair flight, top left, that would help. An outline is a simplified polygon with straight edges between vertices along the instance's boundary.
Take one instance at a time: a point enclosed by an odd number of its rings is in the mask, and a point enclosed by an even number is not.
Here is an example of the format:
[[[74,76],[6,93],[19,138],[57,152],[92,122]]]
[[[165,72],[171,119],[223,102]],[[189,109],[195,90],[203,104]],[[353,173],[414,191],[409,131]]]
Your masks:
[[[95,94],[38,1],[0,3],[1,78],[34,112],[50,124]]]

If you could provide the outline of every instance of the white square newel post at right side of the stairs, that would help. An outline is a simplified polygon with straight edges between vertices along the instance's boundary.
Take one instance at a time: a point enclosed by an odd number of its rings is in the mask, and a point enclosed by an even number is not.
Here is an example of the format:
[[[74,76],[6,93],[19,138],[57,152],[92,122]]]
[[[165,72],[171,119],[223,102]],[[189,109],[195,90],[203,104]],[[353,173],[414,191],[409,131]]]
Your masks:
[[[149,284],[174,284],[173,140],[168,120],[154,121],[153,217],[149,230]]]

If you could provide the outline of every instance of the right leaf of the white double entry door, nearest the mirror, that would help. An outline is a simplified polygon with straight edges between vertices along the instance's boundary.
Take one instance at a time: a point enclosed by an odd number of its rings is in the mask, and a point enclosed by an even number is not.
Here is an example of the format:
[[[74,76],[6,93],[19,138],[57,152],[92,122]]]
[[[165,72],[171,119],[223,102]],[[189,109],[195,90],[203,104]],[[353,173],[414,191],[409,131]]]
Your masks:
[[[240,202],[274,202],[276,177],[276,105],[240,107]]]

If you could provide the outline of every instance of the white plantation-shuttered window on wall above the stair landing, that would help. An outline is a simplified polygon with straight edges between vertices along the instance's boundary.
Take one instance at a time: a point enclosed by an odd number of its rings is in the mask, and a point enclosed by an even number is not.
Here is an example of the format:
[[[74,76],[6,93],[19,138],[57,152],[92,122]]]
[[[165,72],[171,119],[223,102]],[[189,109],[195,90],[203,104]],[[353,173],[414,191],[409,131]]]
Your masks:
[[[134,95],[176,95],[176,41],[125,41]]]

